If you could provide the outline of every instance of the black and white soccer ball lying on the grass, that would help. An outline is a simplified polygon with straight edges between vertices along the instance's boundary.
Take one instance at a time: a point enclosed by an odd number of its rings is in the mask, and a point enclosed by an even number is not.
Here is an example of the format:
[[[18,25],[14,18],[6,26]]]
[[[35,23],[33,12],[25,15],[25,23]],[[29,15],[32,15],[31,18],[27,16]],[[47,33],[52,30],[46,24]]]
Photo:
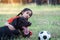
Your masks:
[[[39,32],[38,40],[51,40],[51,34],[48,31]]]

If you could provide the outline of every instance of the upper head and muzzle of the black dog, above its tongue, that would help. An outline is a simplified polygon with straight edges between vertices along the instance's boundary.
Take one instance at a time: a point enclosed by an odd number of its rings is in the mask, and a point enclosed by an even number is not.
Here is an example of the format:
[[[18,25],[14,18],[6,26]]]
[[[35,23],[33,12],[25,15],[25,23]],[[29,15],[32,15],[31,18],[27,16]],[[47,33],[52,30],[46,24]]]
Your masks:
[[[11,23],[16,29],[21,29],[23,26],[28,27],[31,23],[23,17],[14,19]]]

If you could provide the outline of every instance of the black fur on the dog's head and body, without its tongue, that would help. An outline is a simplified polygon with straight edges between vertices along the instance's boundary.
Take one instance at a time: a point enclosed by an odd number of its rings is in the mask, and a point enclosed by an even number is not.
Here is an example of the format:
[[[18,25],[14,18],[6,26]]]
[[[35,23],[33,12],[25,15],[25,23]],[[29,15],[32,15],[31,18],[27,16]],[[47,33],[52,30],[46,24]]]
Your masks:
[[[13,22],[10,24],[13,25],[16,30],[10,30],[8,28],[8,26],[0,27],[0,40],[2,40],[2,39],[3,40],[8,40],[8,39],[13,40],[14,35],[17,35],[17,36],[20,35],[20,32],[18,31],[18,29],[22,32],[22,30],[23,30],[22,26],[27,27],[27,26],[31,25],[31,23],[28,22],[23,17],[14,19]]]

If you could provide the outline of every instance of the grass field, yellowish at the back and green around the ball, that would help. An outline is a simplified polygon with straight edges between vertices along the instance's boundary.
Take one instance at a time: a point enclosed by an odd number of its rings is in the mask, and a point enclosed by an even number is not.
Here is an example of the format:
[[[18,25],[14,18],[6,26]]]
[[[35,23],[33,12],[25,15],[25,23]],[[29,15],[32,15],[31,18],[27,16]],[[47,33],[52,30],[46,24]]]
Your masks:
[[[51,40],[60,40],[60,5],[6,5],[7,9],[5,9],[5,5],[0,4],[0,26],[3,26],[8,18],[15,16],[20,10],[28,7],[33,10],[33,16],[29,19],[29,21],[32,22],[32,25],[29,28],[33,32],[31,40],[38,40],[38,33],[43,30],[51,33]],[[22,38],[22,40],[26,39]]]

